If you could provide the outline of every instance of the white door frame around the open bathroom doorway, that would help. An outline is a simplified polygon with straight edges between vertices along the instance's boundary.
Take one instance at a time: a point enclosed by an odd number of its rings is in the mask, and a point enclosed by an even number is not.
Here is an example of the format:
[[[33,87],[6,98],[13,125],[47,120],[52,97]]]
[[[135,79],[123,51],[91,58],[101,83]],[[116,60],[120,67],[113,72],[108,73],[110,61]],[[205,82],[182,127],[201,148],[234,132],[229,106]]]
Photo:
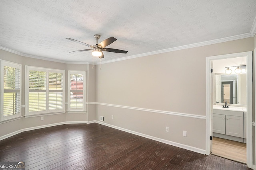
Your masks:
[[[252,147],[252,51],[233,53],[227,55],[217,55],[206,57],[206,154],[210,155],[211,141],[210,137],[212,135],[212,61],[221,60],[236,57],[246,57],[246,109],[247,109],[247,134],[246,134],[246,158],[247,166],[253,168],[253,147]]]

